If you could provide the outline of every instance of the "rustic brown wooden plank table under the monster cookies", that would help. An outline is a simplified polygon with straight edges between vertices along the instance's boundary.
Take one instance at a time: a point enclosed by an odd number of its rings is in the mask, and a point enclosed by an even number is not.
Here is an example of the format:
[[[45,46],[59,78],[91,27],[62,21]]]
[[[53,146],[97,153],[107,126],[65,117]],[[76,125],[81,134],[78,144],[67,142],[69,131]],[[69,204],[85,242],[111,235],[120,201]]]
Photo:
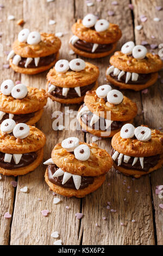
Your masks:
[[[122,38],[118,43],[120,49],[126,41],[134,40],[136,44],[147,41],[149,44],[160,44],[163,40],[163,10],[157,11],[156,6],[161,0],[120,0],[118,5],[111,5],[112,1],[102,0],[87,7],[82,0],[1,0],[4,8],[0,10],[2,22],[0,32],[4,51],[9,51],[12,42],[17,38],[21,27],[16,24],[19,19],[26,22],[24,28],[40,32],[64,32],[60,58],[72,59],[76,56],[69,54],[68,39],[71,26],[87,13],[97,14],[102,19],[117,23],[122,29]],[[133,11],[128,4],[132,3]],[[15,3],[15,4],[14,4]],[[115,11],[114,16],[108,16],[108,10]],[[15,21],[9,21],[8,16],[14,15]],[[146,22],[140,21],[140,15],[146,15]],[[154,17],[161,21],[154,22]],[[56,24],[48,25],[49,20]],[[140,31],[135,26],[142,25]],[[151,36],[155,36],[152,39]],[[157,48],[155,52],[158,52]],[[109,57],[91,60],[100,70],[99,84],[106,83],[105,70],[109,64]],[[7,64],[6,56],[1,57],[1,82],[5,79],[21,80],[29,86],[45,88],[46,73],[35,76],[14,74],[11,69],[4,69]],[[161,74],[161,73],[160,73]],[[156,129],[162,125],[162,84],[158,81],[148,88],[147,94],[141,92],[123,92],[137,103],[139,113],[135,118],[135,125],[146,124]],[[78,110],[78,105],[70,109]],[[48,104],[37,127],[45,132],[47,143],[44,160],[51,157],[54,145],[62,139],[77,136],[80,140],[91,142],[89,133],[82,131],[54,131],[52,129],[52,113],[56,110],[64,111],[60,103],[48,99]],[[111,139],[102,139],[98,145],[110,152]],[[1,245],[53,245],[56,239],[51,237],[53,231],[59,231],[63,245],[162,245],[163,244],[163,210],[159,208],[162,199],[155,194],[155,188],[163,184],[162,169],[151,175],[135,180],[124,176],[112,169],[106,175],[106,181],[96,192],[83,199],[61,198],[59,205],[53,204],[53,194],[44,181],[45,166],[41,164],[34,172],[14,178],[2,176],[0,180],[0,244]],[[17,187],[11,181],[17,181]],[[126,182],[124,181],[126,180]],[[20,188],[27,186],[29,193],[23,193]],[[39,201],[38,198],[42,200]],[[111,203],[111,212],[106,209],[107,202]],[[66,209],[70,206],[70,209]],[[50,214],[43,217],[42,210],[49,210]],[[4,218],[5,212],[10,212],[11,218]],[[84,217],[77,220],[75,214],[82,212]],[[103,220],[106,217],[106,220]],[[135,222],[132,222],[135,220]],[[96,223],[98,227],[96,227]],[[122,225],[121,223],[124,223]]]

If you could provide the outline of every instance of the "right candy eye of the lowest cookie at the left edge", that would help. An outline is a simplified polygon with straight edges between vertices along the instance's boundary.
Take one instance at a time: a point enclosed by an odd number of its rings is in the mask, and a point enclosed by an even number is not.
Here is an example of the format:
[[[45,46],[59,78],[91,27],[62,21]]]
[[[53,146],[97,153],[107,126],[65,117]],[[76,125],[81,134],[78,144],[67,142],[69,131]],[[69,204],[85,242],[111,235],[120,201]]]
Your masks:
[[[29,126],[24,123],[17,124],[14,127],[13,135],[15,138],[24,139],[29,135]]]

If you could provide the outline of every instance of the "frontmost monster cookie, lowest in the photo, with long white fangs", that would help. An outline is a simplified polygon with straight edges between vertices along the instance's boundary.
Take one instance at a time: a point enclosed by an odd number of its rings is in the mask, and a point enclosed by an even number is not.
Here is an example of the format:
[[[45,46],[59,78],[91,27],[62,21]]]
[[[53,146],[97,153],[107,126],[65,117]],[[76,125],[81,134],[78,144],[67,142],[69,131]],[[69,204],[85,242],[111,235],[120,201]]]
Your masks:
[[[97,144],[70,137],[55,145],[52,158],[44,164],[48,166],[45,181],[51,190],[66,197],[85,197],[103,184],[112,159]]]

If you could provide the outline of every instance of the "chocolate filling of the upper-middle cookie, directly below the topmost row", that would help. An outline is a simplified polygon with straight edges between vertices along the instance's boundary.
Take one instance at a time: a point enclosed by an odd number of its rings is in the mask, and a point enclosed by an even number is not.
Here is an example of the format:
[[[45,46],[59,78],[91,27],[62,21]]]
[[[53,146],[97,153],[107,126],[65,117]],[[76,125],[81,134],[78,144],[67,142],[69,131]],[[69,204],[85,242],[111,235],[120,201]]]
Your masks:
[[[81,96],[85,95],[87,90],[91,90],[95,86],[95,84],[96,84],[96,81],[87,86],[80,87]],[[52,84],[49,83],[48,88],[51,85]],[[59,87],[59,86],[56,86],[55,89],[53,90],[53,92],[51,92],[50,94],[52,94],[55,97],[59,97],[60,99],[73,99],[74,97],[79,97],[79,95],[77,94],[77,92],[74,88],[70,88],[68,90],[67,96],[63,96],[62,95],[62,87]]]

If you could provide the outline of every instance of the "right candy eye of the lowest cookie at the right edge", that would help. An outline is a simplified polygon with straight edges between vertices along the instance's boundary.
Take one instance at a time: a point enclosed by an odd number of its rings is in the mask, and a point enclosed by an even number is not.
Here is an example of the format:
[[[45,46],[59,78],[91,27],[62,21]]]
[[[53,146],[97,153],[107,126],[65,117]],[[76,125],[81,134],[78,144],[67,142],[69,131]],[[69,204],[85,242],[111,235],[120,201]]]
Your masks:
[[[146,126],[138,126],[135,129],[135,137],[138,141],[149,141],[151,139],[151,129]]]

